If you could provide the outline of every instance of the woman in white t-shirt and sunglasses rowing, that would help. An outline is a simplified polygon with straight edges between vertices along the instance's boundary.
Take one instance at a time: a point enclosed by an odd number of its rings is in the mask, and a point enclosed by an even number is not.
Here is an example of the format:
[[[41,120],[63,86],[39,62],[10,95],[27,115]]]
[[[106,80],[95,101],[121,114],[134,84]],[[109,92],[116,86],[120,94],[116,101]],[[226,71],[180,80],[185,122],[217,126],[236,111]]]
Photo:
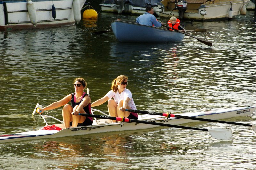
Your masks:
[[[128,77],[120,75],[112,81],[111,89],[104,97],[96,100],[91,107],[99,106],[108,101],[108,113],[113,117],[126,117],[129,119],[138,119],[138,114],[127,112],[125,109],[136,110],[132,99],[132,93],[126,89]],[[112,99],[113,98],[113,99]],[[115,122],[115,121],[113,121]]]

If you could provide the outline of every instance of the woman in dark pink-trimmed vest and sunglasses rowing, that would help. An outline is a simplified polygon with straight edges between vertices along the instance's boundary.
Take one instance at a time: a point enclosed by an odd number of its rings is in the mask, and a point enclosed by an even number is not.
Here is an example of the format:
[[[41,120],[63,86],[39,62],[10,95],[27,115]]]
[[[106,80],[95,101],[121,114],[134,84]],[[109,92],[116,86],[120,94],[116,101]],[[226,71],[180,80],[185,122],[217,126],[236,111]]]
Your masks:
[[[92,117],[78,115],[79,113],[91,113],[91,98],[89,94],[84,92],[87,83],[84,78],[76,78],[74,81],[75,92],[67,95],[63,99],[54,102],[44,108],[37,110],[42,114],[46,110],[56,109],[65,105],[62,109],[62,116],[65,128],[92,125]],[[71,105],[68,104],[71,102]],[[72,114],[74,113],[74,115]]]

